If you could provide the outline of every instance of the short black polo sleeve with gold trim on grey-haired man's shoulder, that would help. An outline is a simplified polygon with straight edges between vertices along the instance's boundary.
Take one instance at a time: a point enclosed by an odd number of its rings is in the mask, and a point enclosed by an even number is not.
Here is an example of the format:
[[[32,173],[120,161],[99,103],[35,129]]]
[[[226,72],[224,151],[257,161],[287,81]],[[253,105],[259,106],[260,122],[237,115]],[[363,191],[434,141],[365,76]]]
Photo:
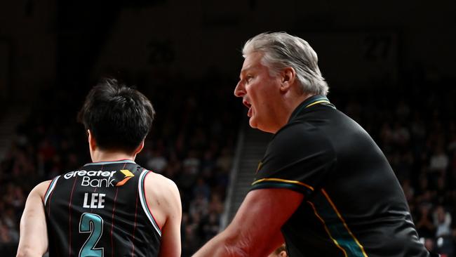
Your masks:
[[[286,188],[305,196],[321,187],[336,162],[330,140],[306,124],[288,124],[269,143],[250,190]]]

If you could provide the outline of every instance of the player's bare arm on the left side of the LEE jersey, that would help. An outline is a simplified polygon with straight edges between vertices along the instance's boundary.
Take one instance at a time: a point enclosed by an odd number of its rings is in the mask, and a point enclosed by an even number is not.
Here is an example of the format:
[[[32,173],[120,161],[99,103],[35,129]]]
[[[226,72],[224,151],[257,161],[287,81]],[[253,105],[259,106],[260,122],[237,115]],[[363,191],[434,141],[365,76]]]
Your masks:
[[[27,197],[20,218],[18,257],[43,256],[48,249],[48,230],[43,197],[51,180],[39,183]]]

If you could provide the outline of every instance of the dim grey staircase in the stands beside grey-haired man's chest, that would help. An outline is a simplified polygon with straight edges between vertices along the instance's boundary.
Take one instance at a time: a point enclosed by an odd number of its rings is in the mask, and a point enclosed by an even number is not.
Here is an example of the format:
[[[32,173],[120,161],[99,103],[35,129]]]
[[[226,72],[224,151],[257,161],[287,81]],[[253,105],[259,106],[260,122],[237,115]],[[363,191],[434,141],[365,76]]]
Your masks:
[[[250,185],[253,183],[255,171],[257,171],[258,164],[263,158],[271,138],[272,134],[251,129],[248,124],[245,124],[241,129],[234,157],[231,183],[220,225],[221,230],[231,222],[246,197]]]

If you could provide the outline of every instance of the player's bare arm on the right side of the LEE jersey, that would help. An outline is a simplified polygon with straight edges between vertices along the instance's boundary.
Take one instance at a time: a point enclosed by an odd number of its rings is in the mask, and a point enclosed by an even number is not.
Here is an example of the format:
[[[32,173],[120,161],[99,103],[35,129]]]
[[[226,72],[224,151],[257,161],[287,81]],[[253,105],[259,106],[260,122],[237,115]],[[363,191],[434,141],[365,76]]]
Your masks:
[[[152,178],[149,178],[151,177]],[[179,257],[181,253],[180,222],[182,204],[177,186],[172,180],[151,173],[146,177],[147,198],[155,199],[159,206],[156,218],[161,225],[161,246],[159,256]]]

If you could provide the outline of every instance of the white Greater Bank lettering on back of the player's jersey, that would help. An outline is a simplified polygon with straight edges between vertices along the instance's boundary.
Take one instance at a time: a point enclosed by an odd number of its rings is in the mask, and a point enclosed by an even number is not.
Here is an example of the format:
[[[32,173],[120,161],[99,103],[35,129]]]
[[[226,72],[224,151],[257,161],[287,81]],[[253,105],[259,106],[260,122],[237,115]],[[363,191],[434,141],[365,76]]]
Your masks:
[[[82,177],[81,186],[83,187],[114,187],[115,173],[116,171],[70,171],[63,177],[65,179]]]

